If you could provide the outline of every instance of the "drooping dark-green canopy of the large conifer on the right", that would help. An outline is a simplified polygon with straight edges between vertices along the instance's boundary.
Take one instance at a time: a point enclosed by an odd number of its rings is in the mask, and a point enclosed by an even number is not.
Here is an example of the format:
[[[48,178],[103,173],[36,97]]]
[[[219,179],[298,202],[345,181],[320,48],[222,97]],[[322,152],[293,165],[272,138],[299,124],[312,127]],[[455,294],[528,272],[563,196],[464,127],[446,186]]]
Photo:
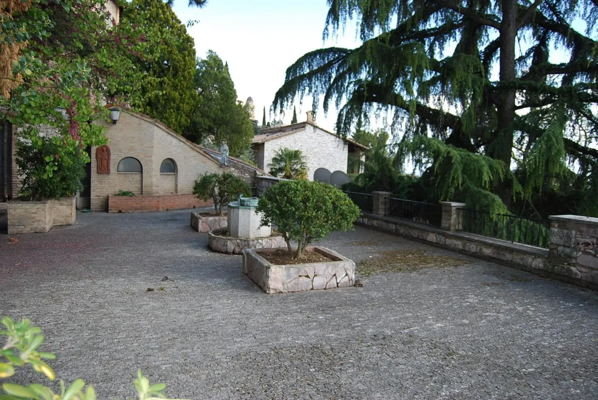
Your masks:
[[[569,212],[598,215],[598,2],[328,5],[324,36],[356,19],[362,44],[298,59],[274,108],[323,96],[343,135],[389,112],[395,166],[426,169],[436,200],[545,216],[568,199]]]

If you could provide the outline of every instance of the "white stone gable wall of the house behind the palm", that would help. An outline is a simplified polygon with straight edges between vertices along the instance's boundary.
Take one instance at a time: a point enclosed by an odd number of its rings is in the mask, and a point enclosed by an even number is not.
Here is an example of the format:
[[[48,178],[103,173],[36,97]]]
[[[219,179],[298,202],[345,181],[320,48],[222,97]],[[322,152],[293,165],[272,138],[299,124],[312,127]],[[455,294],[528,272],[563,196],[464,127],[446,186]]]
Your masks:
[[[270,172],[268,164],[272,162],[272,157],[278,149],[285,147],[301,150],[307,162],[307,178],[310,181],[313,181],[313,173],[318,168],[347,172],[348,143],[309,124],[301,132],[265,142],[264,161],[258,161],[258,164],[263,164],[264,170]]]

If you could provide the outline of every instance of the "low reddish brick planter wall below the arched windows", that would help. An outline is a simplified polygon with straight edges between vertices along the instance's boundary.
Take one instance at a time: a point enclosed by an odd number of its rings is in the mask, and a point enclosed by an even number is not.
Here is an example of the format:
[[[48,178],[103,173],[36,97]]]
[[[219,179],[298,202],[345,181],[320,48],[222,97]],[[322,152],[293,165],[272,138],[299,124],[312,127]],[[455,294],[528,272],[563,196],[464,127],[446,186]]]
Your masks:
[[[199,200],[193,194],[108,196],[108,212],[112,213],[184,210],[211,206],[212,204],[212,200]]]

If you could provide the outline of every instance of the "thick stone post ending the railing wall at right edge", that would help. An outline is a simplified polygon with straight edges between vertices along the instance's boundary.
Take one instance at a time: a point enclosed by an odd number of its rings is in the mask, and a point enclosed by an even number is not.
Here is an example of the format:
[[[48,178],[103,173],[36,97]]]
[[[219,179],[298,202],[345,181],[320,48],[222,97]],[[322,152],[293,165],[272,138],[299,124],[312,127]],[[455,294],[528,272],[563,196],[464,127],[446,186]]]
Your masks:
[[[551,215],[548,262],[554,271],[598,286],[598,218]]]

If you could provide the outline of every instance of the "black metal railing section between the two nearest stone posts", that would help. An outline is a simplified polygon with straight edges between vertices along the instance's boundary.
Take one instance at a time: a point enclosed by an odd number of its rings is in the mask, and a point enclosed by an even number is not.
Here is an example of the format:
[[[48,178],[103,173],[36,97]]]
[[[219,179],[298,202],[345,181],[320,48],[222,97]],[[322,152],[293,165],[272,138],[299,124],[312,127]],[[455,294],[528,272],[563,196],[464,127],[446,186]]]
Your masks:
[[[487,211],[458,209],[457,230],[495,237],[509,242],[548,248],[550,220],[496,214]]]

